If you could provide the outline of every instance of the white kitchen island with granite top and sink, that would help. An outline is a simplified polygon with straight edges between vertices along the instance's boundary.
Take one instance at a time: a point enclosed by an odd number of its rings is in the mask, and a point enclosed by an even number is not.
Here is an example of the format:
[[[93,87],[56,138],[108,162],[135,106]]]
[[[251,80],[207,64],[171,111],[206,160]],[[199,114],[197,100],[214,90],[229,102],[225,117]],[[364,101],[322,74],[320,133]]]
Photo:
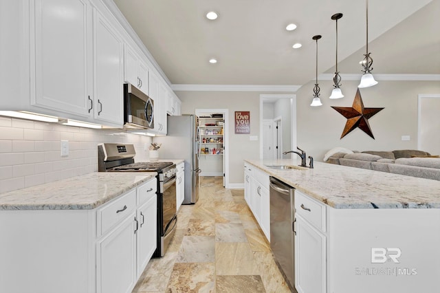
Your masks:
[[[439,181],[296,160],[246,165],[295,188],[298,292],[438,292]]]

